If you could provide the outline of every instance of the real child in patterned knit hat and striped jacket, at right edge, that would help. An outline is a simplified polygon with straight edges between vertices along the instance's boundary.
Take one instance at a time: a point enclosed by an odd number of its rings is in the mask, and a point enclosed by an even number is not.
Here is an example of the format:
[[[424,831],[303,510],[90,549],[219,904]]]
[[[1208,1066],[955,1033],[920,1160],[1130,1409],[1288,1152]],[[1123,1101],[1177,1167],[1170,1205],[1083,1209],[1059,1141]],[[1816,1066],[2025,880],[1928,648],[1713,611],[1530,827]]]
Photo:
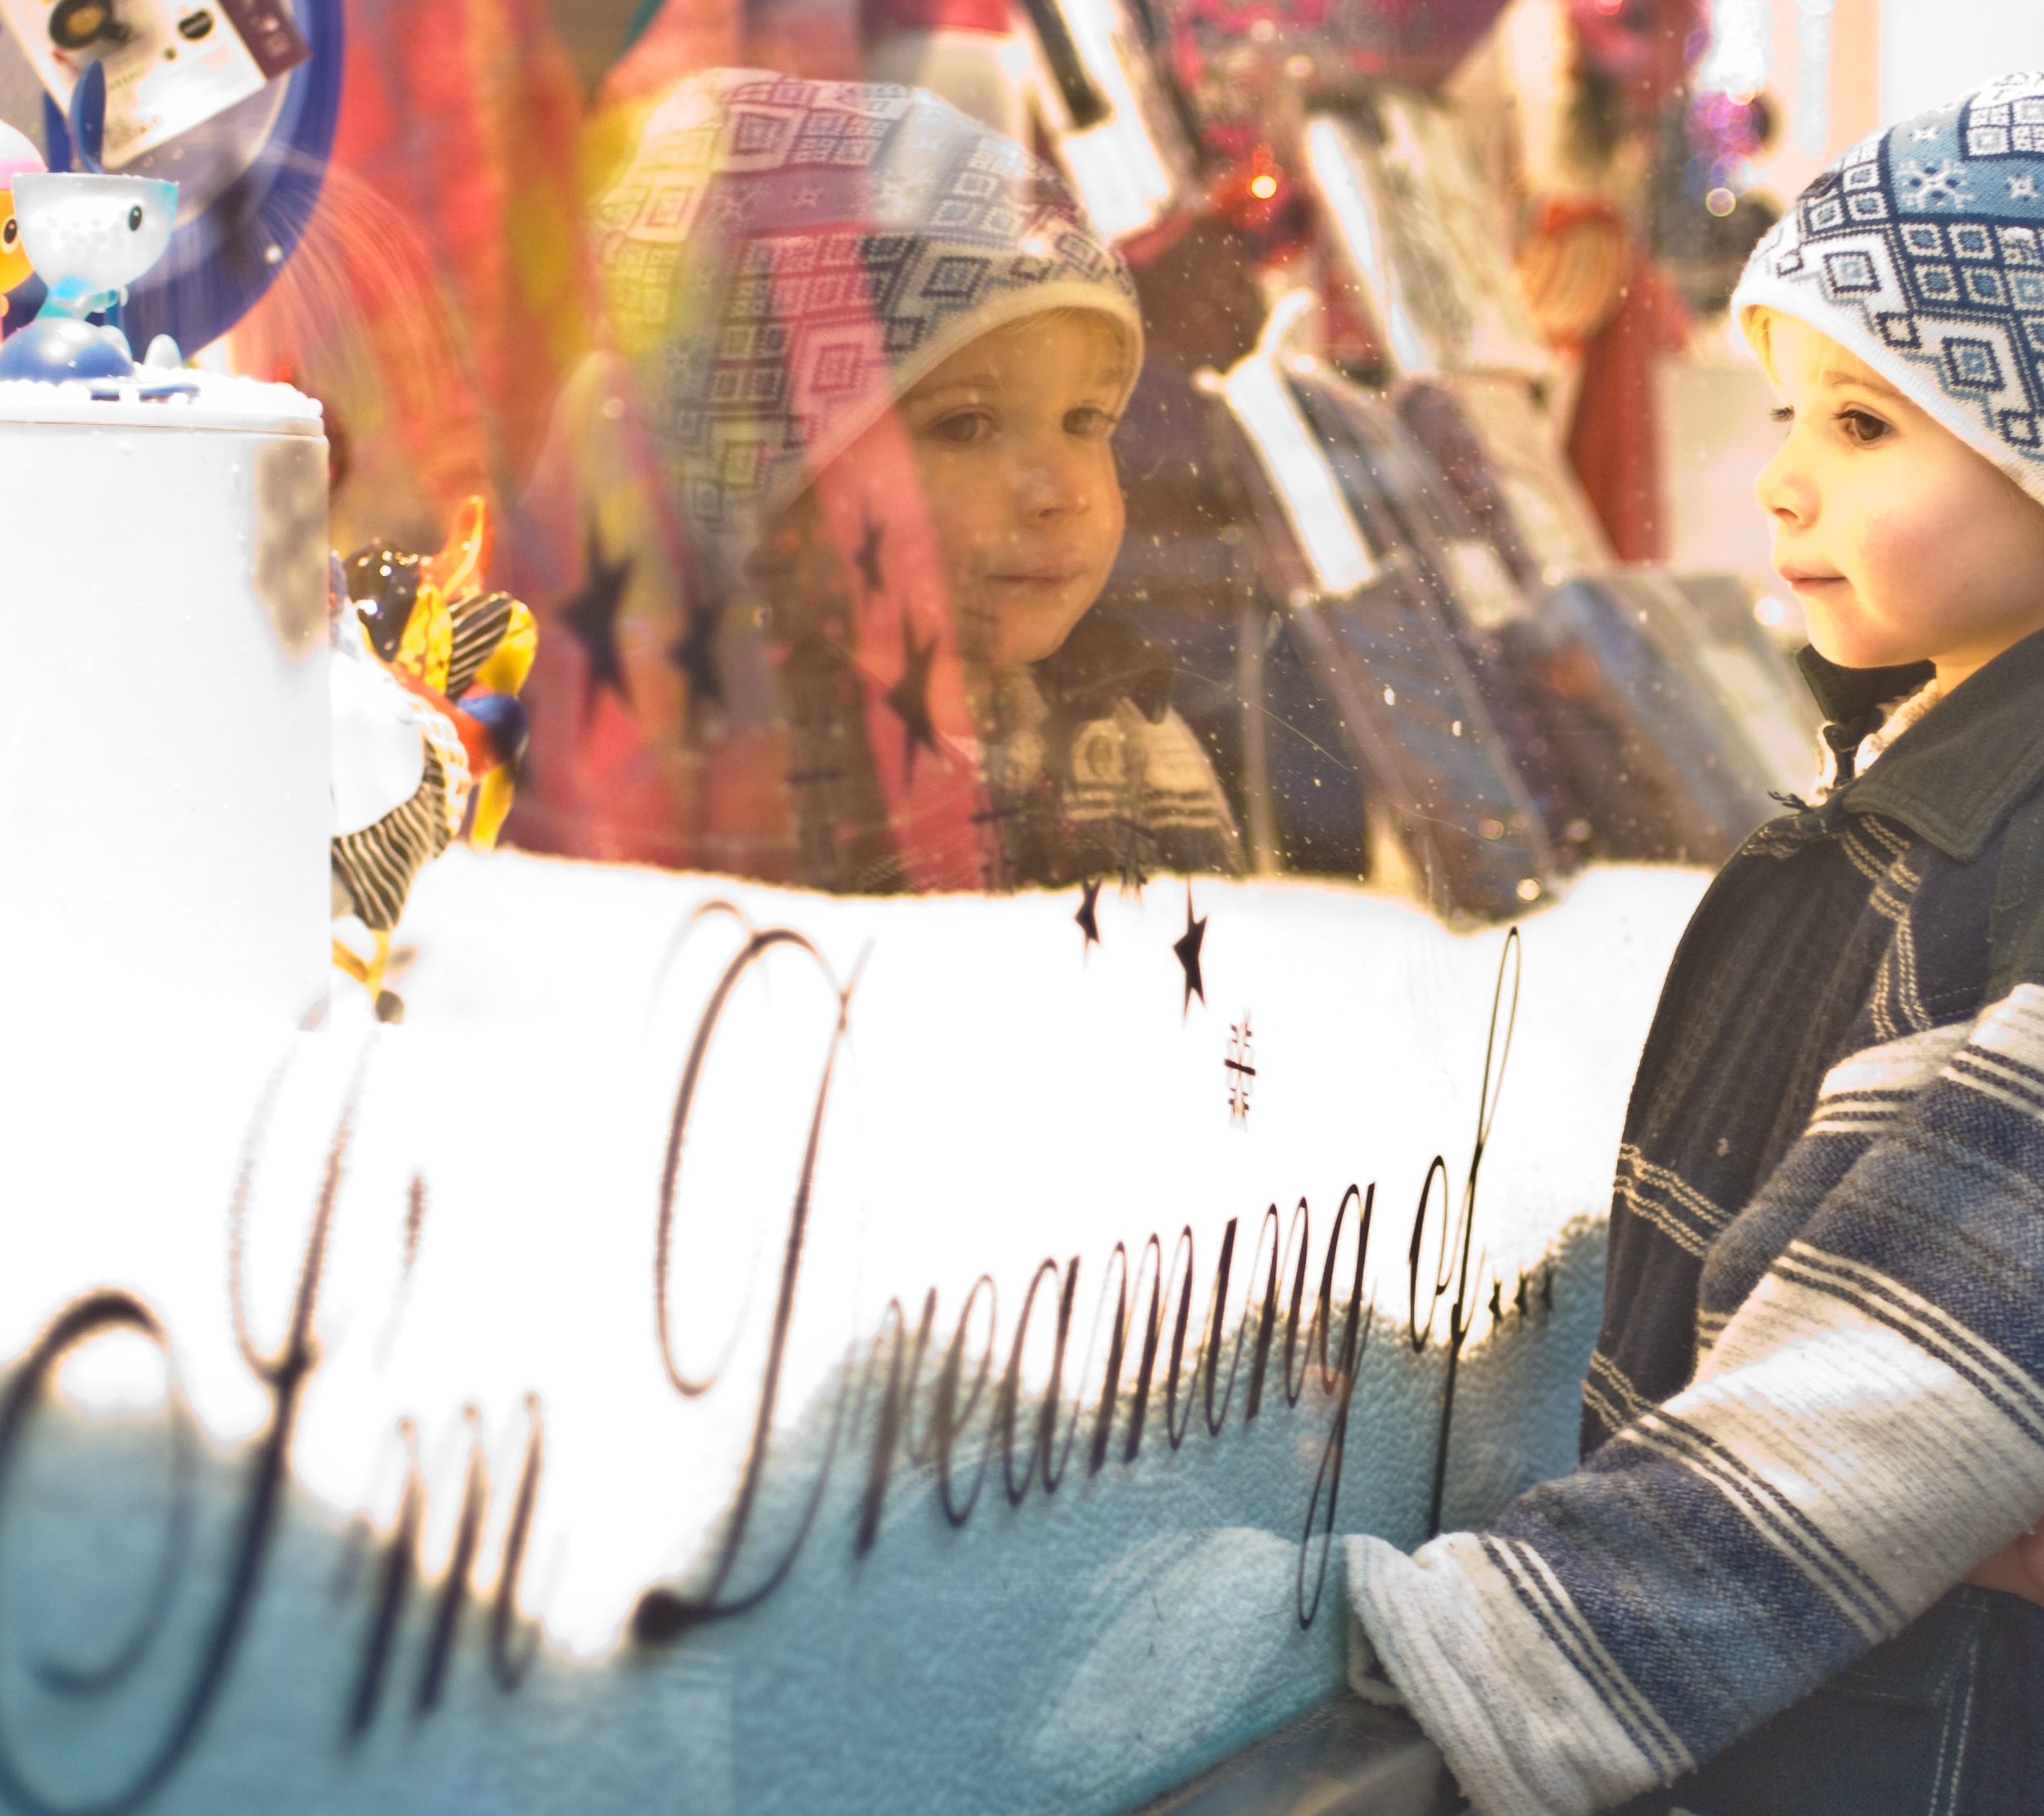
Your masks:
[[[2044,76],[1846,153],[1733,309],[1827,777],[1668,973],[1582,1468],[1351,1538],[1351,1669],[1486,1816],[2034,1810]]]

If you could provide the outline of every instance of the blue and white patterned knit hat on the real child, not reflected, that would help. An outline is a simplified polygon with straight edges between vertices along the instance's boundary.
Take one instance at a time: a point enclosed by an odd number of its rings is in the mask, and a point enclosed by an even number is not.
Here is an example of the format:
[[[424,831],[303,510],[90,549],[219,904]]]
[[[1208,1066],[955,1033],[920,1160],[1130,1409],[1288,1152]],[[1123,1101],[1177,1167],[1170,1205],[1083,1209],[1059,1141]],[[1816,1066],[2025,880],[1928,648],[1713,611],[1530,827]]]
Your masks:
[[[2044,503],[2044,74],[1862,139],[1746,266],[1731,311],[1850,348]]]

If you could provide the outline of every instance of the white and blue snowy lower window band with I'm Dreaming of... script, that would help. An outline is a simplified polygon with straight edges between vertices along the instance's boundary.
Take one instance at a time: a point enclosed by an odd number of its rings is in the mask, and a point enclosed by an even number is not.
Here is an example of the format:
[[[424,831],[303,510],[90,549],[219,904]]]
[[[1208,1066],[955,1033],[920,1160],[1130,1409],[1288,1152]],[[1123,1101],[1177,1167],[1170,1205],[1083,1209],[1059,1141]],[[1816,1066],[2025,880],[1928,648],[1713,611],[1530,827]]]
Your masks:
[[[1077,892],[456,851],[401,1027],[166,982],[47,1029],[0,1092],[0,1808],[1188,1779],[1339,1687],[1329,1524],[1425,1538],[1457,1301],[1443,1522],[1570,1466],[1701,886],[1592,871],[1457,937],[1110,881],[1089,943]]]

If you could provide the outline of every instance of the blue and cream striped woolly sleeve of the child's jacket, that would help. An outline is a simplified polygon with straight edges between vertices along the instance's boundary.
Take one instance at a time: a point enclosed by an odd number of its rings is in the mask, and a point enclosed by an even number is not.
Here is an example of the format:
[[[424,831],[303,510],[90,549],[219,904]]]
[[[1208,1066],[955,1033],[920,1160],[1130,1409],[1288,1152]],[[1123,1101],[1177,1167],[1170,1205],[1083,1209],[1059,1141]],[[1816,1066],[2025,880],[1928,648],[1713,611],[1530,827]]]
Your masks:
[[[2044,1511],[2044,988],[1840,1065],[1741,1225],[1690,1387],[1490,1532],[1347,1542],[1486,1816],[1672,1781]]]

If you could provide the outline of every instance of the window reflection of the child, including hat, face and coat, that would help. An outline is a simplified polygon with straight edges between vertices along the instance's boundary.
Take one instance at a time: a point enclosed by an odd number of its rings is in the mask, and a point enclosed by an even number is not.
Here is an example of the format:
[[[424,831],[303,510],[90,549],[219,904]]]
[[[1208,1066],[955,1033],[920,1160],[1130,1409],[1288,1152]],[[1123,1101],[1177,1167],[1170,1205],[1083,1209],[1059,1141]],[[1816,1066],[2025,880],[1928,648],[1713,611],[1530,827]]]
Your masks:
[[[689,593],[621,691],[666,689],[654,736],[695,757],[691,861],[840,890],[1241,869],[1163,652],[1087,616],[1143,323],[1057,178],[916,90],[713,70],[595,213],[638,534]]]

